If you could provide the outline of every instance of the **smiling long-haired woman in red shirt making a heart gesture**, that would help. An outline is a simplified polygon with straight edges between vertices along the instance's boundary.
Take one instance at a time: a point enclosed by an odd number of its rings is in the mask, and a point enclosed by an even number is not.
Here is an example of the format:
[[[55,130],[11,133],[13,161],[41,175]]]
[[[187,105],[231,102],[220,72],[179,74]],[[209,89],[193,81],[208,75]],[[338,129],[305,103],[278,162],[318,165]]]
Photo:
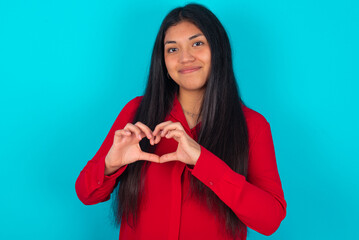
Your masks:
[[[163,20],[144,96],[121,111],[76,191],[96,204],[117,184],[120,239],[245,239],[247,226],[270,235],[286,215],[270,126],[240,99],[227,34],[201,5]]]

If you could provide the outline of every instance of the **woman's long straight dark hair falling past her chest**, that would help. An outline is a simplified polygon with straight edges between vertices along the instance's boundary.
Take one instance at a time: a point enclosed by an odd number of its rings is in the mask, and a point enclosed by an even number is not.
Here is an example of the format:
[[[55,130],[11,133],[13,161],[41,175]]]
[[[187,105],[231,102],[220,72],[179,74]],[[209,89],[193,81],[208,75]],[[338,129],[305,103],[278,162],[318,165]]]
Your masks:
[[[133,122],[140,121],[152,130],[164,121],[172,108],[178,85],[167,77],[164,61],[164,37],[169,27],[181,21],[196,25],[207,38],[211,49],[211,70],[201,107],[201,128],[198,143],[222,159],[232,170],[247,176],[248,134],[241,100],[232,66],[229,39],[217,17],[202,5],[188,4],[172,10],[163,20],[152,52],[151,66],[145,94]],[[153,151],[145,138],[140,142],[144,151]],[[115,216],[136,224],[146,173],[146,162],[127,166],[115,199]],[[141,177],[142,176],[142,177]],[[202,182],[191,175],[191,189],[195,196],[206,201],[209,209],[218,211],[226,222],[226,230],[233,237],[245,232],[246,226],[233,211]],[[129,223],[131,224],[131,223]]]

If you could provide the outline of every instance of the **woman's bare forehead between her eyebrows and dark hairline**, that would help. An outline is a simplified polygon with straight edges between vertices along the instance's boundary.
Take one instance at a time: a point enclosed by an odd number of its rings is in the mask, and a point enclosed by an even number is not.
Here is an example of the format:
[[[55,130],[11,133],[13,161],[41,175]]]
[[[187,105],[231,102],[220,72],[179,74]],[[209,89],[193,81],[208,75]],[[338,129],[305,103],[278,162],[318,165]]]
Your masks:
[[[189,37],[198,33],[202,33],[202,31],[196,25],[182,21],[167,29],[164,41],[188,40]]]

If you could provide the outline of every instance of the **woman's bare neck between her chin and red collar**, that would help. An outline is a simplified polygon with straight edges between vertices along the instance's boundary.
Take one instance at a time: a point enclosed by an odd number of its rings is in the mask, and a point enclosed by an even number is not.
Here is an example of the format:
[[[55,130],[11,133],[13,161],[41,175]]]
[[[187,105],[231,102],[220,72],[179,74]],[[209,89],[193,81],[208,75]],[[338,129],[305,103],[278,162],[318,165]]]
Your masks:
[[[183,111],[192,114],[199,114],[202,106],[204,90],[202,91],[179,91],[178,101],[181,103]]]

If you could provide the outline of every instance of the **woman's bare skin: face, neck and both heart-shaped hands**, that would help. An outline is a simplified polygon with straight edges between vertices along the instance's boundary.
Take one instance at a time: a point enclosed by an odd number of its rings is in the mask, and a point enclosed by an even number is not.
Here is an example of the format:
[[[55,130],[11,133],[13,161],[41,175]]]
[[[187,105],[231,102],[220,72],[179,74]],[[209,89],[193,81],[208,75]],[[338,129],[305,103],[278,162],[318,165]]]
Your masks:
[[[205,85],[211,68],[211,51],[201,30],[188,21],[182,21],[166,31],[164,59],[168,74],[179,86],[178,100],[184,110],[199,113]],[[189,126],[194,119],[186,116]],[[178,142],[177,150],[161,157],[143,152],[139,146],[147,137],[150,144],[158,144],[162,137]],[[128,123],[115,132],[114,141],[105,159],[105,175],[110,175],[124,165],[146,160],[163,163],[181,161],[195,165],[201,153],[200,145],[187,135],[180,123],[162,122],[154,131],[141,122]]]

